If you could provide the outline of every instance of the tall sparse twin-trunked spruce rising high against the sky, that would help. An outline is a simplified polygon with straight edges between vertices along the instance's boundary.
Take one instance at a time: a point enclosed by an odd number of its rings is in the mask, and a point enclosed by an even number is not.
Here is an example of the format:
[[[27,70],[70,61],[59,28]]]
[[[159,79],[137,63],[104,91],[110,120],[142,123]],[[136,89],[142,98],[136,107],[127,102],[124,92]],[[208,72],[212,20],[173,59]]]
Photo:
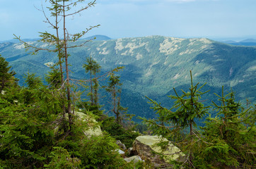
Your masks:
[[[75,34],[71,34],[67,30],[66,20],[70,17],[74,17],[74,15],[85,11],[88,8],[91,8],[95,5],[95,0],[90,1],[85,4],[86,0],[49,0],[46,1],[50,4],[47,6],[47,9],[51,12],[50,17],[48,17],[45,13],[44,8],[42,8],[42,12],[45,15],[45,22],[50,25],[55,30],[55,34],[50,34],[49,32],[40,32],[40,42],[44,42],[48,44],[48,48],[42,49],[38,48],[37,46],[32,46],[24,42],[21,37],[17,37],[27,49],[35,49],[35,54],[37,51],[46,50],[50,52],[54,52],[57,54],[59,59],[59,71],[61,76],[63,75],[63,68],[62,63],[64,62],[64,70],[66,78],[62,76],[62,89],[66,90],[66,104],[63,103],[63,118],[65,119],[65,114],[68,114],[68,121],[69,121],[69,133],[71,134],[72,124],[74,123],[73,114],[71,112],[71,82],[70,82],[70,75],[69,75],[69,49],[75,48],[77,46],[83,46],[88,41],[85,41],[78,45],[72,45],[72,42],[78,41],[81,37],[86,35],[86,33],[92,30],[94,27],[98,27],[99,25],[90,27],[85,31],[78,32]],[[85,6],[83,6],[85,4]],[[78,7],[78,8],[77,8]],[[51,21],[53,18],[54,21]],[[62,30],[62,33],[61,33]],[[62,36],[60,36],[62,35]],[[73,43],[74,44],[74,43]],[[54,46],[54,48],[52,48]]]

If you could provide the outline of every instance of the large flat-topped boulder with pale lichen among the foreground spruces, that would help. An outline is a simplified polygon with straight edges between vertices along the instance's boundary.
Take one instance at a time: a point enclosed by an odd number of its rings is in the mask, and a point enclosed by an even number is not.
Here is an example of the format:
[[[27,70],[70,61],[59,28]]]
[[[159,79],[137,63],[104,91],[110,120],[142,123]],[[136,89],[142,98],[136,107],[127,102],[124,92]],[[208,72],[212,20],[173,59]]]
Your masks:
[[[156,146],[161,141],[158,136],[139,136],[136,137],[133,150],[138,153],[143,160],[151,161],[157,168],[171,168],[168,163],[170,160],[182,161],[182,157],[185,156],[177,146],[174,146],[169,142],[167,149],[161,150],[160,146]],[[163,139],[167,141],[168,139]],[[165,158],[161,158],[158,154],[153,154],[153,151],[160,154],[168,154]]]

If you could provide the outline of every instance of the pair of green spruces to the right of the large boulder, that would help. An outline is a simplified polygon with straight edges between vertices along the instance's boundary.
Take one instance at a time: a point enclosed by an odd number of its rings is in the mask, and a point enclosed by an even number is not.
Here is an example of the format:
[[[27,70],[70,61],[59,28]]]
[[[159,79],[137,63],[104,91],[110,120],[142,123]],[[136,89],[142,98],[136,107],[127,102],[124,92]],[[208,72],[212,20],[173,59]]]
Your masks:
[[[176,96],[170,96],[176,100],[170,109],[148,98],[158,118],[141,119],[154,134],[168,138],[186,154],[185,161],[172,162],[176,167],[254,168],[255,109],[243,108],[235,102],[234,92],[224,95],[222,89],[221,96],[216,94],[221,105],[212,102],[217,116],[206,118],[205,127],[201,129],[192,128],[195,125],[194,118],[202,118],[209,111],[209,107],[199,100],[206,93],[199,92],[204,85],[198,89],[197,85],[193,86],[191,75],[190,92],[182,90],[181,96],[177,92]],[[189,132],[187,129],[190,129]],[[166,144],[161,142],[159,145],[165,149]]]

